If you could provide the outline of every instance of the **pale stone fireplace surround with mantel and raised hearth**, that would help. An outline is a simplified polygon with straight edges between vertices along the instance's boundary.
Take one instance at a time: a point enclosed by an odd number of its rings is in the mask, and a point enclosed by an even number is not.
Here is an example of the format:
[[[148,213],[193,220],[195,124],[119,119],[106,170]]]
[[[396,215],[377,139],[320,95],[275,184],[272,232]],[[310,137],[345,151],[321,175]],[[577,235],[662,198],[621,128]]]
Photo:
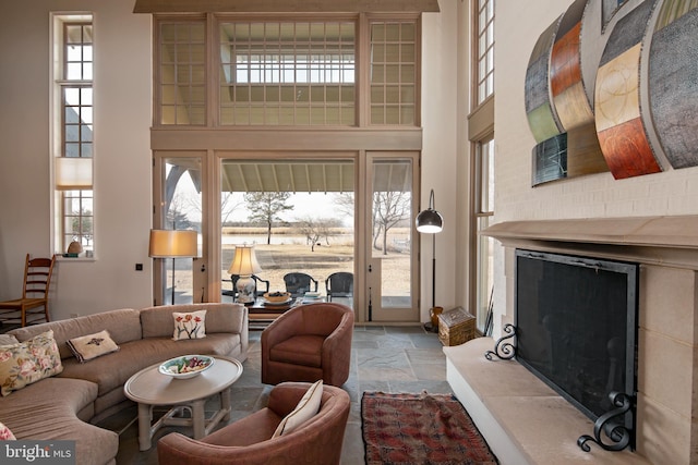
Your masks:
[[[485,234],[505,247],[506,314],[494,339],[444,352],[454,392],[501,462],[698,463],[698,216],[508,221]],[[640,264],[635,453],[582,452],[576,441],[593,436],[591,420],[516,360],[484,358],[514,322],[516,248]]]

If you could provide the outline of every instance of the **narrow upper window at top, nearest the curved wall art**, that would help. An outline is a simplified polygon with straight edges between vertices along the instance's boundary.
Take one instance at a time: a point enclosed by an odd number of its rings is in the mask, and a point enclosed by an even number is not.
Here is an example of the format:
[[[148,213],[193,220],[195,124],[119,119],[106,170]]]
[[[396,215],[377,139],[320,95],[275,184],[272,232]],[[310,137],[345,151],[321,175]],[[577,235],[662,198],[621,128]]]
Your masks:
[[[494,93],[494,0],[478,0],[476,12],[477,105]]]

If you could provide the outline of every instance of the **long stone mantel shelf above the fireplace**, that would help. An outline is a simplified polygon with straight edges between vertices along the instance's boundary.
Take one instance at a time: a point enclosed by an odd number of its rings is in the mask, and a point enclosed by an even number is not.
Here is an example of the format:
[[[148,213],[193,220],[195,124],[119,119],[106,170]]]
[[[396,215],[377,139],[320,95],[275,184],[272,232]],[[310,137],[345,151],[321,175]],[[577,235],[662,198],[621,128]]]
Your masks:
[[[504,221],[483,234],[507,247],[698,266],[698,216]]]

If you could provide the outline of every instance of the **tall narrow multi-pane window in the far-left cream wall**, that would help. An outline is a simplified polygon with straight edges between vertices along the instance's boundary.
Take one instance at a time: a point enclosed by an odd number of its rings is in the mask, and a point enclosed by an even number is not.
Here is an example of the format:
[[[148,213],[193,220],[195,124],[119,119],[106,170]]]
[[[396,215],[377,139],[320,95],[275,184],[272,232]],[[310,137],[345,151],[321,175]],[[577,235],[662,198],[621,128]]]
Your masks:
[[[57,248],[72,242],[87,255],[94,250],[92,160],[94,155],[93,25],[91,15],[57,16],[55,94],[57,139],[55,187]]]

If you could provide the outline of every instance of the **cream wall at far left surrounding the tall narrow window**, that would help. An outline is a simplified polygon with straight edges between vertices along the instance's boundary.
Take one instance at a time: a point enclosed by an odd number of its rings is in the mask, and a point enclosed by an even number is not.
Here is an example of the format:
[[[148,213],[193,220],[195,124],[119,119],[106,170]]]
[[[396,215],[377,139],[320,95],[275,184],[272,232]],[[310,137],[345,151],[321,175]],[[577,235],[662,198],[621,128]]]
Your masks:
[[[94,260],[61,260],[55,319],[151,305],[151,16],[132,0],[3,2],[0,13],[0,299],[21,292],[24,256],[52,254],[49,159],[51,12],[95,25]],[[135,264],[144,271],[135,271]]]

